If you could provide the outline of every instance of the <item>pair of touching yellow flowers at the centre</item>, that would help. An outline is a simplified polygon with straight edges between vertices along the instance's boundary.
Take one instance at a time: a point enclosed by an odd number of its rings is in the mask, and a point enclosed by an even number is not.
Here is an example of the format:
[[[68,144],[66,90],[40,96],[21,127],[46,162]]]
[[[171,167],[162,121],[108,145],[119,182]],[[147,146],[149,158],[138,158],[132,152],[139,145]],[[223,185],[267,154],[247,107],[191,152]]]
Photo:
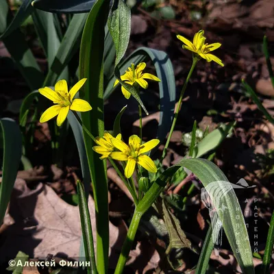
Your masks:
[[[114,160],[127,161],[125,166],[125,177],[127,178],[132,177],[136,164],[140,164],[140,166],[151,173],[156,173],[157,171],[153,160],[145,153],[159,144],[160,140],[158,139],[141,144],[140,138],[137,135],[132,135],[129,137],[129,145],[127,145],[121,140],[121,134],[114,138],[111,134],[105,132],[104,136],[101,138],[97,137],[95,142],[99,146],[93,147],[93,150],[102,154],[100,159],[110,157]]]

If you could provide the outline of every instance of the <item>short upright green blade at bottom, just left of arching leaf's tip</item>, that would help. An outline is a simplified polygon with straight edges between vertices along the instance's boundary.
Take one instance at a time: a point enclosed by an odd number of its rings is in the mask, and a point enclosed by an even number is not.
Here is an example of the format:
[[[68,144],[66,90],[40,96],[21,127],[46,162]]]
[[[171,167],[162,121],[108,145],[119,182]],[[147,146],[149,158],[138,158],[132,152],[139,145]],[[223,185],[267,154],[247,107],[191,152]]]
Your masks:
[[[208,262],[210,261],[213,248],[214,242],[212,240],[212,225],[210,225],[208,233],[206,234],[206,239],[203,242],[203,248],[201,249],[197,267],[195,269],[196,274],[206,274],[206,270],[208,269]]]

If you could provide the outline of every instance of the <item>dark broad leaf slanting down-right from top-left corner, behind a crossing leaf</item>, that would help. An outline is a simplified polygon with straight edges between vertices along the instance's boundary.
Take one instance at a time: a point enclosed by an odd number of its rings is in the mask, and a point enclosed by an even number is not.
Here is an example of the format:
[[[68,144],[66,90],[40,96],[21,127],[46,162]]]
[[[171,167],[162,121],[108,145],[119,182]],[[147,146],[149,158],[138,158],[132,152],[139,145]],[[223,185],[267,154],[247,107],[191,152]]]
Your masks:
[[[3,34],[12,21],[12,14],[6,0],[0,0],[0,34]],[[44,76],[25,42],[25,37],[20,29],[14,29],[9,36],[1,38],[5,47],[8,49],[12,59],[16,62],[19,71],[25,78],[31,90],[40,88]],[[20,45],[20,46],[18,46]]]

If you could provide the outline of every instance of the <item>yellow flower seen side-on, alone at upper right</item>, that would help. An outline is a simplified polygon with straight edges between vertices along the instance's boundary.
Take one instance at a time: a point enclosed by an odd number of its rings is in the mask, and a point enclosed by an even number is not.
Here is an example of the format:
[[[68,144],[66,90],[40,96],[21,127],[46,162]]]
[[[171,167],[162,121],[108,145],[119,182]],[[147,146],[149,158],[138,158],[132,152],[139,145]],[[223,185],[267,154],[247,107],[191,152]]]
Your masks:
[[[197,53],[201,58],[206,59],[208,62],[214,61],[220,66],[224,66],[223,62],[218,57],[210,53],[210,51],[214,51],[221,47],[221,43],[217,42],[210,45],[205,44],[206,37],[203,36],[203,30],[200,30],[195,34],[193,43],[180,35],[177,35],[177,38],[186,44],[183,45],[183,49],[188,49],[189,51]]]

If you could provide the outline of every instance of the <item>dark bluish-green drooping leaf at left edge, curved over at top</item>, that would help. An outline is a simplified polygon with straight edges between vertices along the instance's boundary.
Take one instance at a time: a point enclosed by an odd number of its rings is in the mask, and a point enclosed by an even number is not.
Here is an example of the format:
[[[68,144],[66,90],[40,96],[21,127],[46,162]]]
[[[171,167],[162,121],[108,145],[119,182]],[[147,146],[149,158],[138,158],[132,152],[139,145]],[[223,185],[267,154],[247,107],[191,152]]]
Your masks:
[[[3,134],[3,172],[0,184],[0,223],[10,201],[22,156],[22,136],[18,125],[9,118],[0,119]]]

